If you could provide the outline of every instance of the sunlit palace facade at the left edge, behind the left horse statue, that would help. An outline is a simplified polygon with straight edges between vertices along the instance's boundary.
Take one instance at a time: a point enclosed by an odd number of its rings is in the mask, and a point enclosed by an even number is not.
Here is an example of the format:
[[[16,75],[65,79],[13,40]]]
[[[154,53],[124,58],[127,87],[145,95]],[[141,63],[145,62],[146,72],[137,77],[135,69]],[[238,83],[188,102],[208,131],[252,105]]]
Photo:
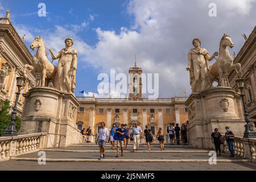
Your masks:
[[[0,100],[9,100],[14,105],[16,77],[22,76],[25,64],[32,65],[32,55],[11,24],[9,16],[0,18]],[[35,86],[35,73],[28,74],[21,93]],[[19,97],[18,114],[21,115],[24,97]]]

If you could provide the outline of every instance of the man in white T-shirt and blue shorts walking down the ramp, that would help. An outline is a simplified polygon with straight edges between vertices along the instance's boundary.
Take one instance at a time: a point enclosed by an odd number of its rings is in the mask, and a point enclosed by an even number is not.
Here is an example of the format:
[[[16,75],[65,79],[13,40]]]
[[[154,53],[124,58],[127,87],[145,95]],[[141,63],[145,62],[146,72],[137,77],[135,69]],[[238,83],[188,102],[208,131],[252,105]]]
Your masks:
[[[98,131],[98,137],[96,140],[96,144],[98,143],[98,146],[100,147],[100,158],[104,159],[105,158],[105,146],[106,146],[106,142],[108,142],[108,138],[109,138],[109,130],[105,127],[105,123],[101,122],[101,129]]]

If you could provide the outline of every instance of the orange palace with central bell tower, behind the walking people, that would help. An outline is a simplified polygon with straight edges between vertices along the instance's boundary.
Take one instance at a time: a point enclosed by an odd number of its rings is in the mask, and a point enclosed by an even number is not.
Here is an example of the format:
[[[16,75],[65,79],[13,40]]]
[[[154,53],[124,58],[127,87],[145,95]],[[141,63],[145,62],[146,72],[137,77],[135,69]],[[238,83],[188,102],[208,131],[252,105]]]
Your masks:
[[[188,110],[184,105],[187,98],[142,98],[141,74],[142,68],[136,63],[129,69],[129,98],[77,97],[81,104],[77,114],[79,129],[90,126],[92,133],[96,134],[102,121],[108,129],[113,123],[127,123],[132,127],[137,122],[142,130],[150,125],[153,134],[159,127],[166,134],[170,123],[185,123],[188,120]]]

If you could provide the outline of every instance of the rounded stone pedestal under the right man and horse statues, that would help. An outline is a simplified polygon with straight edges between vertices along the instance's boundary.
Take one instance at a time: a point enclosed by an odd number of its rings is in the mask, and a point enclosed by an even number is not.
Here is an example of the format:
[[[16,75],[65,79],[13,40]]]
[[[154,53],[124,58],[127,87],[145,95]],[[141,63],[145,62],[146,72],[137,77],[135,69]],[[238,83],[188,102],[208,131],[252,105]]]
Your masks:
[[[185,105],[188,107],[190,145],[214,148],[210,135],[215,128],[224,135],[226,126],[230,127],[236,137],[243,136],[245,119],[241,97],[236,90],[228,87],[208,89],[192,94]]]

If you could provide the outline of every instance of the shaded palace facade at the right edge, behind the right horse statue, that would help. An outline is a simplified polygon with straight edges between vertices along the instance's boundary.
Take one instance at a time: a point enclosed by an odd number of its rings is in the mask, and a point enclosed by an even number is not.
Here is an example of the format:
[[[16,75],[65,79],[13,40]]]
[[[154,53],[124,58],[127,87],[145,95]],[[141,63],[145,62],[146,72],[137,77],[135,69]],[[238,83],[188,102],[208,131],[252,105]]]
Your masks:
[[[245,44],[241,48],[240,52],[234,59],[234,64],[240,63],[242,65],[242,78],[246,79],[246,87],[243,90],[245,93],[245,101],[247,111],[249,113],[250,121],[256,125],[256,27],[251,32],[249,38],[245,41]],[[230,86],[240,90],[236,85],[237,73],[232,71],[229,74]]]

